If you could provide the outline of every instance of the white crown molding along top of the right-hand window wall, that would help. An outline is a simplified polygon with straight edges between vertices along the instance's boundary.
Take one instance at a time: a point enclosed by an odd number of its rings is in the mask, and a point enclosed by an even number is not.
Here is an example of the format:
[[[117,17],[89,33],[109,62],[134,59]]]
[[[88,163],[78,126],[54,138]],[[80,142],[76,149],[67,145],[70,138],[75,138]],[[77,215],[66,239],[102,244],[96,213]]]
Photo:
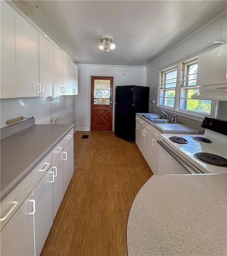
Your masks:
[[[171,47],[170,49],[168,49],[166,52],[164,52],[163,54],[161,54],[159,57],[155,58],[154,60],[152,60],[148,65],[146,65],[146,67],[148,68],[153,62],[155,62],[156,60],[162,58],[163,56],[165,56],[167,53],[171,52],[173,49],[175,49],[176,47],[178,47],[179,45],[181,45],[182,43],[186,42],[189,38],[193,37],[195,34],[199,33],[200,31],[204,30],[204,28],[209,27],[213,24],[215,24],[217,21],[221,20],[223,17],[225,17],[227,15],[227,9],[225,9],[224,11],[222,11],[220,14],[218,14],[217,16],[215,16],[214,18],[212,18],[212,20],[206,22],[203,26],[199,27],[197,30],[195,30],[194,32],[192,32],[191,34],[189,34],[187,37],[185,37],[182,41],[180,41],[179,43],[175,44],[175,46]],[[183,59],[183,58],[182,58]],[[178,60],[179,61],[179,60]],[[176,62],[178,62],[176,61]],[[175,63],[175,62],[173,62]]]

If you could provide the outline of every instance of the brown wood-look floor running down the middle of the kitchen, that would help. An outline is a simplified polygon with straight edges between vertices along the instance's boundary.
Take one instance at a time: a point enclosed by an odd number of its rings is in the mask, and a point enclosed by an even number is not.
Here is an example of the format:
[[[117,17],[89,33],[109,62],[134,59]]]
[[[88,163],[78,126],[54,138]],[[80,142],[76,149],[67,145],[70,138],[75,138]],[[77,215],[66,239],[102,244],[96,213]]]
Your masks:
[[[74,174],[41,256],[125,256],[129,210],[151,175],[135,143],[76,132]]]

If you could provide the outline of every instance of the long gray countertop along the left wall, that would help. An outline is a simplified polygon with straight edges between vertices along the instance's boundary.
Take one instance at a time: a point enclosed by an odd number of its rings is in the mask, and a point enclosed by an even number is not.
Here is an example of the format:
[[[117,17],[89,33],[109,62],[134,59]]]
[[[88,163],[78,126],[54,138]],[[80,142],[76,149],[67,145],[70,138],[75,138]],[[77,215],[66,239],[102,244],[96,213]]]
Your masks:
[[[1,201],[73,128],[36,124],[1,139]]]

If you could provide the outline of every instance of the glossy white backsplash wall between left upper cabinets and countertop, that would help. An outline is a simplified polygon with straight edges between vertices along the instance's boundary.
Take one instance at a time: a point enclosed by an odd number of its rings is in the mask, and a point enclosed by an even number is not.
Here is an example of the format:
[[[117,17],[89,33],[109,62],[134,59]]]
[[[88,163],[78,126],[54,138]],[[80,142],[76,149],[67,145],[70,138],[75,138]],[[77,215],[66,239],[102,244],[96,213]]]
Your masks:
[[[10,98],[0,100],[1,128],[15,117],[34,117],[36,124],[50,124],[52,117],[61,117],[62,124],[74,124],[75,96]]]

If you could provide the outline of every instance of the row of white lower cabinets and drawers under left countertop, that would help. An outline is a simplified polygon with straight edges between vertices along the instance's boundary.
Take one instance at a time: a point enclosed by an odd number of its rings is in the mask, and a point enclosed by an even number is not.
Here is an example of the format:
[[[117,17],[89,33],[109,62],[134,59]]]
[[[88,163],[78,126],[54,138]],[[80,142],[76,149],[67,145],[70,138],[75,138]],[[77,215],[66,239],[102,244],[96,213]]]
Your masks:
[[[0,255],[40,255],[73,171],[72,129],[1,202]]]

